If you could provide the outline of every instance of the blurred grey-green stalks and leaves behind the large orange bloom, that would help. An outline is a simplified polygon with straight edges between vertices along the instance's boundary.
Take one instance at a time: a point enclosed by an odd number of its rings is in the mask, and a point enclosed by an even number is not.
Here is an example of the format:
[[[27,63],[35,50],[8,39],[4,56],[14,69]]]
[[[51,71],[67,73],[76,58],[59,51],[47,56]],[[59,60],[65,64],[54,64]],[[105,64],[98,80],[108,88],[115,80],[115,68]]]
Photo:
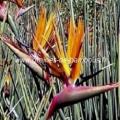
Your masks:
[[[84,40],[83,76],[90,75],[102,67],[113,64],[86,85],[105,85],[120,81],[118,79],[118,34],[119,0],[26,0],[25,6],[35,5],[33,9],[19,17],[17,21],[17,39],[26,46],[31,46],[33,33],[39,16],[40,6],[47,8],[47,13],[58,11],[59,30],[65,40],[63,23],[74,16],[83,17],[87,28]],[[15,17],[17,7],[9,4],[8,12]],[[73,11],[72,11],[73,10]],[[70,12],[72,11],[72,12]],[[62,18],[62,19],[61,19]],[[4,21],[1,31],[14,34]],[[44,120],[50,104],[51,92],[58,92],[61,83],[56,78],[54,86],[48,87],[44,81],[26,68],[9,48],[0,41],[0,119]],[[78,79],[80,81],[80,78]],[[37,82],[37,83],[36,83]],[[39,89],[39,94],[38,94]],[[9,96],[9,97],[7,97]],[[119,120],[120,95],[118,89],[65,107],[54,113],[53,120]]]

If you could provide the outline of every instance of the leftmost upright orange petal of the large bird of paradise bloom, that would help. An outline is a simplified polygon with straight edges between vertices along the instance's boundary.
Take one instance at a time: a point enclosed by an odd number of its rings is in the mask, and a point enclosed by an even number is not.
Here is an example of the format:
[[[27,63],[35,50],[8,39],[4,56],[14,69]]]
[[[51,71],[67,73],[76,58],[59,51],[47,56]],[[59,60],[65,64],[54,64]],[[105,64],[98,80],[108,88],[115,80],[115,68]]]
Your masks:
[[[35,36],[33,39],[33,49],[36,51],[39,49],[39,44],[42,41],[42,35],[45,30],[45,23],[46,23],[46,9],[42,7],[40,9],[38,24],[37,24]]]

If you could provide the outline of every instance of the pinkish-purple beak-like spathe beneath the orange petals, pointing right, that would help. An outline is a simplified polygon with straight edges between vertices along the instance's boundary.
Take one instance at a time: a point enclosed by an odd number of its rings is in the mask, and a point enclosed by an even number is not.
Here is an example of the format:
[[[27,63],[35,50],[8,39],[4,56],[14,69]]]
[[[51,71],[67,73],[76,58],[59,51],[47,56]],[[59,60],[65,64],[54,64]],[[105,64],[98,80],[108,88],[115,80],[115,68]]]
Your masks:
[[[120,83],[115,83],[111,85],[90,87],[90,86],[68,86],[64,88],[59,94],[54,96],[49,106],[46,120],[48,120],[56,109],[75,104],[82,100],[88,99],[90,97],[96,96],[98,94],[104,93],[106,91],[112,90],[120,86]]]

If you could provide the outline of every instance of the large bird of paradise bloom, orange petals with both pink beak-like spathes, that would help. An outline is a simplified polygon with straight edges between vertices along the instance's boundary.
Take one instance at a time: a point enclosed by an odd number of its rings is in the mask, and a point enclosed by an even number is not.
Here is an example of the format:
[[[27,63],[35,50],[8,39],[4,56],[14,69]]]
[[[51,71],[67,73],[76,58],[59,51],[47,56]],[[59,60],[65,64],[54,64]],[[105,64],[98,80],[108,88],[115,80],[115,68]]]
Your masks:
[[[13,42],[7,35],[1,35],[1,40],[40,77],[49,84],[49,77],[58,77],[63,82],[63,89],[57,93],[49,105],[46,120],[48,120],[55,110],[71,104],[75,104],[81,100],[88,99],[103,92],[112,90],[120,86],[120,83],[114,83],[104,86],[76,86],[75,82],[82,71],[80,58],[82,56],[82,44],[84,40],[84,21],[80,18],[75,24],[74,19],[70,18],[66,51],[63,49],[61,36],[57,28],[56,14],[53,12],[47,20],[46,9],[40,9],[38,24],[36,26],[33,38],[33,47],[31,52],[25,46],[20,46],[18,42]],[[49,52],[52,52],[52,55]],[[55,61],[51,61],[51,57]],[[41,58],[43,62],[49,66],[45,69],[40,64]],[[61,59],[62,58],[62,59]],[[74,61],[77,59],[77,62]],[[45,77],[44,75],[50,75]],[[51,85],[51,84],[49,84]]]

